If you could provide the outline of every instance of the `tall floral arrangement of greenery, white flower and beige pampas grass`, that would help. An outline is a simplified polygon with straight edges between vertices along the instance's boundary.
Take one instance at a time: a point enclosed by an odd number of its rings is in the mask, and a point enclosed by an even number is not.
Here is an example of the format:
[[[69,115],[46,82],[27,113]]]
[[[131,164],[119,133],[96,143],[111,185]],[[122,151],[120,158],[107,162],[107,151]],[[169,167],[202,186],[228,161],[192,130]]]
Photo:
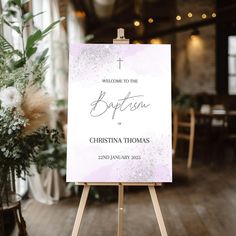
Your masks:
[[[51,166],[51,159],[42,160],[39,153],[49,140],[55,145],[58,143],[58,132],[46,127],[49,99],[40,92],[47,69],[48,49],[39,52],[38,44],[61,19],[44,30],[34,29],[25,37],[27,28],[33,25],[33,19],[43,14],[28,12],[28,2],[9,0],[0,16],[0,27],[10,27],[21,42],[21,49],[18,49],[0,35],[0,200],[10,169],[21,177],[23,173],[28,173],[33,163]],[[35,91],[37,96],[27,96],[30,91]],[[39,98],[39,94],[42,97]],[[43,105],[39,99],[44,101]],[[35,120],[37,126],[32,125]],[[29,129],[31,132],[25,132],[29,126],[32,126]]]

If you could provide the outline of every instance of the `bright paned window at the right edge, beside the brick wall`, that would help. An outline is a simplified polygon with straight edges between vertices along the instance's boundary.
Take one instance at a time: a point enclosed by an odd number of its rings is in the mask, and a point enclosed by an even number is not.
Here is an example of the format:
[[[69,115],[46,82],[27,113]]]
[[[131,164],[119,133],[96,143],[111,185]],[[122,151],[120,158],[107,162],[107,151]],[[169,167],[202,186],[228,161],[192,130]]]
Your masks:
[[[236,36],[228,37],[228,93],[236,95]]]

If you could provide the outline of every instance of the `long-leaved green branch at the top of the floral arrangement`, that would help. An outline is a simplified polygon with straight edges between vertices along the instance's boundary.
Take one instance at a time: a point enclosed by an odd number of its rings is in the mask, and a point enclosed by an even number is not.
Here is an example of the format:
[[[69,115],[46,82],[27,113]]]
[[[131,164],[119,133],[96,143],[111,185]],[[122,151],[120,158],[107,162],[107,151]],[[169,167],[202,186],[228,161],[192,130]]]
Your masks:
[[[7,68],[8,70],[23,67],[29,59],[38,64],[38,67],[40,63],[45,63],[48,57],[48,50],[39,53],[38,44],[64,19],[60,18],[44,30],[35,29],[31,35],[25,38],[25,29],[30,22],[33,21],[35,17],[44,13],[39,12],[34,15],[32,12],[27,12],[28,3],[29,0],[9,0],[3,14],[0,16],[0,24],[6,24],[14,30],[22,42],[22,50],[19,51],[16,50],[3,35],[0,36],[0,54],[11,54],[11,65]],[[36,54],[38,54],[37,57],[35,56]],[[4,60],[4,58],[2,58],[2,60]]]

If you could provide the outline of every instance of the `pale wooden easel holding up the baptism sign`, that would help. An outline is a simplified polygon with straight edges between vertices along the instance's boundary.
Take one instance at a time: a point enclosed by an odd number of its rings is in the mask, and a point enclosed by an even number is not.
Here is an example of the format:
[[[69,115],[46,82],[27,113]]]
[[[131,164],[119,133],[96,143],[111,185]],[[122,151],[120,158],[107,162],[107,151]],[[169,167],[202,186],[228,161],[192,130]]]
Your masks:
[[[124,29],[117,30],[117,38],[113,40],[113,44],[129,44],[129,39],[124,36]],[[124,226],[124,186],[147,186],[151,195],[154,211],[162,236],[168,236],[165,223],[162,217],[160,205],[158,202],[155,186],[161,186],[161,183],[76,183],[76,185],[84,186],[82,196],[80,198],[79,208],[77,211],[72,236],[78,236],[80,224],[87,202],[89,190],[91,186],[118,186],[118,229],[117,236],[123,236]]]

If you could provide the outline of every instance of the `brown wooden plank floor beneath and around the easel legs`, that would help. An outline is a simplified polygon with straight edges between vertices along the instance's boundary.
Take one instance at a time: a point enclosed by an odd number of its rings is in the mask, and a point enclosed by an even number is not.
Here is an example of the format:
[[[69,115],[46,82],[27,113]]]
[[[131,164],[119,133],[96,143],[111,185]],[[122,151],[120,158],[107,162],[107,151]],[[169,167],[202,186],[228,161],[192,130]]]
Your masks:
[[[195,162],[188,171],[177,160],[173,184],[156,189],[169,236],[236,235],[236,164],[209,165]],[[23,215],[29,236],[71,235],[78,203],[78,198],[52,206],[27,201]],[[125,236],[160,235],[147,190],[127,193],[125,205]],[[116,228],[115,202],[90,203],[80,235],[113,236]]]

